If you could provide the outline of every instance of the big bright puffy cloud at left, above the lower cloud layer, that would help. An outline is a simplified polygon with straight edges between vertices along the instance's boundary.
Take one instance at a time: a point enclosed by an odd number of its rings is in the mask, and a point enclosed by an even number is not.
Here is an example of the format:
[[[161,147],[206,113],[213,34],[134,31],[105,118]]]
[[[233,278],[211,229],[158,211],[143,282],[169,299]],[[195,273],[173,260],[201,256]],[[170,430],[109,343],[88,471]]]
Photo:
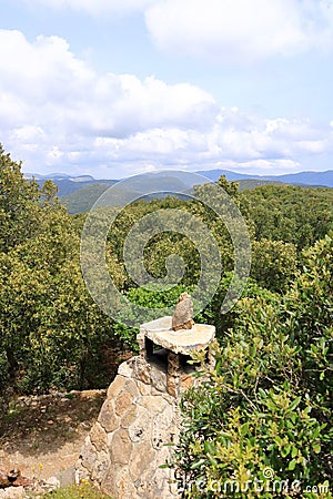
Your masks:
[[[29,43],[18,31],[0,30],[0,113],[9,123],[122,136],[161,124],[204,128],[218,112],[212,95],[189,83],[100,77],[58,37]]]

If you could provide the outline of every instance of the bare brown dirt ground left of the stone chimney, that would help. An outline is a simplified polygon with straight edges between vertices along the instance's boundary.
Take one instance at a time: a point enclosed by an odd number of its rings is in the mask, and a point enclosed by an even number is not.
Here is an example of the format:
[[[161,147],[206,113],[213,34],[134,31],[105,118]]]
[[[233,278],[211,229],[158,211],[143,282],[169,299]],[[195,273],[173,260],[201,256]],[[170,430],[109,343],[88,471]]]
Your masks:
[[[0,470],[48,479],[74,466],[105,390],[19,397],[0,435]]]

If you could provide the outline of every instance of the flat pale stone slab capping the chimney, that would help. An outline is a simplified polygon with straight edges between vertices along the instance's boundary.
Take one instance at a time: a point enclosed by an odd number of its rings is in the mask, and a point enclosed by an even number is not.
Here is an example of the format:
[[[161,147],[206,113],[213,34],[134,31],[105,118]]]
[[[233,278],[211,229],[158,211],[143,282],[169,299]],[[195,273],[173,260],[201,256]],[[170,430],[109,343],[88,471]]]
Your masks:
[[[172,317],[165,316],[140,326],[140,335],[147,336],[174,354],[190,355],[191,350],[205,348],[215,336],[215,326],[195,324],[192,329],[172,329]]]

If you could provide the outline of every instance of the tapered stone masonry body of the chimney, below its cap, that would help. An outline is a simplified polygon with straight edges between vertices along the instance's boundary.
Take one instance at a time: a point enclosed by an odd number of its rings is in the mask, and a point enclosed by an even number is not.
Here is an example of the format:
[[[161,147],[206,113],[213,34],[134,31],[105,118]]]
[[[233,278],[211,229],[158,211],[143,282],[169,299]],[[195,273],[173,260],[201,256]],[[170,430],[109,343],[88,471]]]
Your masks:
[[[141,356],[123,363],[87,437],[77,480],[89,478],[113,499],[178,497],[165,465],[179,435],[179,401],[167,366]]]

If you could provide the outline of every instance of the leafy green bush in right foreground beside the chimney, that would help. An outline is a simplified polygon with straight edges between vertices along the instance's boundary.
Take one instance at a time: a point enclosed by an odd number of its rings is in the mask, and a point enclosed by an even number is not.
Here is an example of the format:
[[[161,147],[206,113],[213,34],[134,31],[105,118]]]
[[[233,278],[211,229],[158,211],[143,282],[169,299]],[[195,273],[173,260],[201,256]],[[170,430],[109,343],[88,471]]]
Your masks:
[[[297,485],[297,497],[314,498],[310,490],[332,479],[332,256],[326,236],[304,253],[284,297],[238,304],[215,368],[182,401],[183,497],[224,497],[230,487],[240,498],[293,497]]]

